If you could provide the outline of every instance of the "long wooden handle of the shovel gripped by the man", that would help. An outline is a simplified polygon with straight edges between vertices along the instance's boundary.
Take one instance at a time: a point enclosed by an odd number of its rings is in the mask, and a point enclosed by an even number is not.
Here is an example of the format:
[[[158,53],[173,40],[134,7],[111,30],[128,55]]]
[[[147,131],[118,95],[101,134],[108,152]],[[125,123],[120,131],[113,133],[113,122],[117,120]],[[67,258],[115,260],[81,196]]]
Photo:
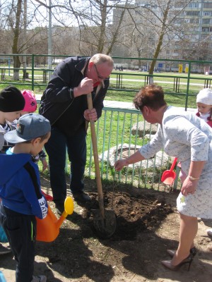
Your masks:
[[[87,94],[87,102],[88,102],[88,109],[93,109],[93,102],[91,93]],[[93,146],[93,158],[95,164],[95,178],[96,184],[98,188],[98,198],[99,198],[99,206],[100,212],[102,214],[102,218],[105,219],[105,209],[104,209],[104,200],[103,200],[103,192],[102,192],[102,181],[100,176],[100,166],[99,166],[99,158],[98,158],[98,146],[95,134],[95,122],[90,121],[90,132],[91,132],[91,140]]]

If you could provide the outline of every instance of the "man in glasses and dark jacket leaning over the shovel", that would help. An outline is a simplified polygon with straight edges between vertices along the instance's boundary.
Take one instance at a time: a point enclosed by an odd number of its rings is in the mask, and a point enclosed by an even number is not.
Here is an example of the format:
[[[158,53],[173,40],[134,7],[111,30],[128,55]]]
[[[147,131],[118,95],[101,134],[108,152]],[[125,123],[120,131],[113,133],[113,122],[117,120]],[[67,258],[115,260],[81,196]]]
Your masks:
[[[76,201],[87,202],[83,176],[86,166],[86,121],[97,121],[113,69],[110,56],[95,54],[64,59],[55,68],[41,98],[40,114],[49,119],[52,135],[45,145],[49,155],[50,184],[57,212],[64,210],[66,198],[66,148],[71,161],[70,189]],[[93,109],[87,95],[92,93]]]

